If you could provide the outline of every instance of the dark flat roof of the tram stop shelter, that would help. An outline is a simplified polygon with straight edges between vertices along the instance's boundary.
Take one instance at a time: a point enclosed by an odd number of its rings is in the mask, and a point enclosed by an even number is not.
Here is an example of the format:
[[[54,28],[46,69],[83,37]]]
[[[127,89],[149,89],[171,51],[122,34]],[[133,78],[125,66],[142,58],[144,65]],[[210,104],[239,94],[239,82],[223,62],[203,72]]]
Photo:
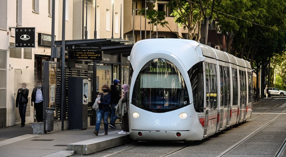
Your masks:
[[[76,44],[98,44],[101,43],[101,50],[104,54],[118,55],[127,57],[130,56],[133,43],[120,38],[102,38],[102,39],[79,39],[79,40],[66,40],[65,45],[76,45]],[[55,45],[62,45],[62,41],[55,41]]]

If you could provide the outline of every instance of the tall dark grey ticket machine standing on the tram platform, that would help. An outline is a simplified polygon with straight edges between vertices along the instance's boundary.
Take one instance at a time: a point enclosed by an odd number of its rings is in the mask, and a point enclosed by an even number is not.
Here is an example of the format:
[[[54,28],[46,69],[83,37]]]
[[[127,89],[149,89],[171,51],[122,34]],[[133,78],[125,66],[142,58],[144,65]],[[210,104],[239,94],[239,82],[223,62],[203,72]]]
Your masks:
[[[67,118],[69,129],[87,128],[88,80],[84,77],[67,78]]]

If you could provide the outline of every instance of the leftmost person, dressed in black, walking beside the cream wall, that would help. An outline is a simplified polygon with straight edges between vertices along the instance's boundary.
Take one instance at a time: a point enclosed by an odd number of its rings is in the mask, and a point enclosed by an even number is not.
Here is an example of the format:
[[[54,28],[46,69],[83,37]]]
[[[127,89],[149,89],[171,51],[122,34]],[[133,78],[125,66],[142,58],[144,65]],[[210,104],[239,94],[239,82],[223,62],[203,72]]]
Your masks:
[[[25,126],[26,108],[28,103],[29,89],[26,88],[27,84],[22,83],[22,88],[18,89],[16,96],[16,107],[19,106],[19,114],[21,117],[21,127]]]

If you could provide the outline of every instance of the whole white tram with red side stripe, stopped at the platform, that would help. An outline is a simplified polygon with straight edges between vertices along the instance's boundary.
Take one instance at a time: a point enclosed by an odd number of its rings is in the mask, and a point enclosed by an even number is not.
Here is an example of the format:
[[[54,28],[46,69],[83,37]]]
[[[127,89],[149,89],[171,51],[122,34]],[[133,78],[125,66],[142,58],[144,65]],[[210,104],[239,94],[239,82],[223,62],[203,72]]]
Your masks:
[[[251,117],[248,61],[186,39],[141,40],[128,59],[134,140],[202,140]]]

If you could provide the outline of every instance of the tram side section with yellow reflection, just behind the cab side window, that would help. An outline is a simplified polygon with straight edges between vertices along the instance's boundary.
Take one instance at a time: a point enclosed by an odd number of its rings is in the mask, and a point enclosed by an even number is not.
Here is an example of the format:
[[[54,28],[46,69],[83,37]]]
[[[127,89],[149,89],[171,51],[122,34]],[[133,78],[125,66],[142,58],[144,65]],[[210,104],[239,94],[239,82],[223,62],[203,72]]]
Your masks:
[[[205,63],[206,110],[204,135],[212,135],[217,123],[217,70],[216,65]]]

